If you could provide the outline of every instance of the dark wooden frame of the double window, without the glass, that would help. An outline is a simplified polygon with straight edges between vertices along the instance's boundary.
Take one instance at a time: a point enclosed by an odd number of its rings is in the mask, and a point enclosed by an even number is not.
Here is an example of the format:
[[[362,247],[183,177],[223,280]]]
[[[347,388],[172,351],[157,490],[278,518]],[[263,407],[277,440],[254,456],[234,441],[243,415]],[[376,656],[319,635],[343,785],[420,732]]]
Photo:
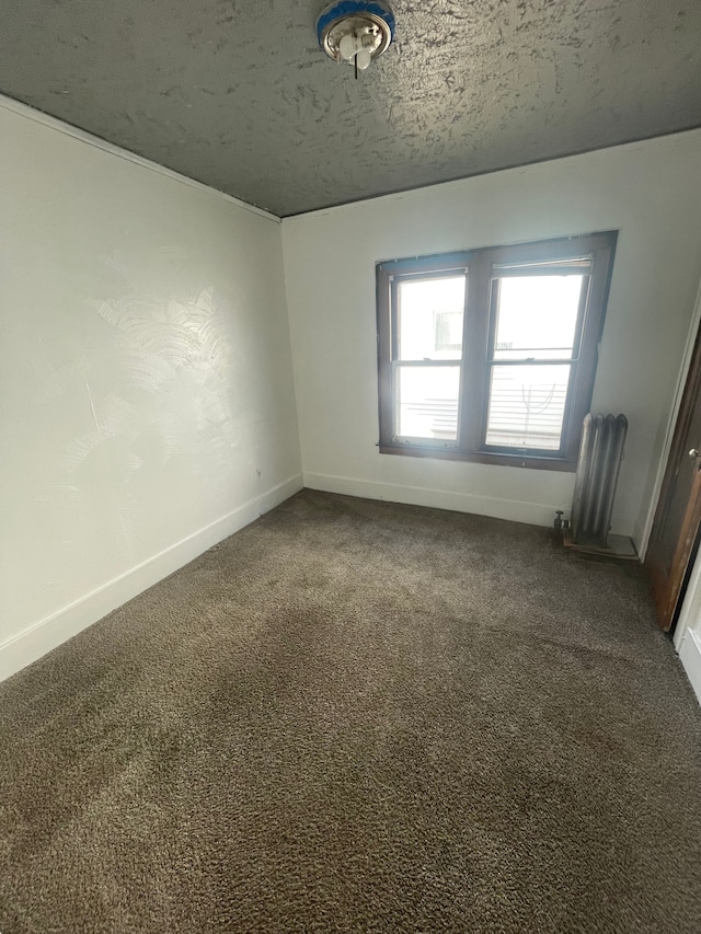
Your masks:
[[[589,411],[594,392],[598,345],[606,316],[617,238],[618,231],[609,230],[510,246],[490,246],[378,263],[376,282],[380,453],[556,471],[576,470],[582,423]],[[566,264],[567,260],[584,257],[589,257],[591,265],[587,288],[584,288],[583,282],[579,298],[572,358],[561,361],[566,362],[571,371],[560,449],[547,451],[487,445],[485,439],[491,372],[495,362],[503,362],[494,359],[498,284],[506,277],[498,275],[498,267],[508,269],[519,265],[532,266],[526,275],[536,275],[538,272],[554,270],[559,264]],[[398,360],[397,353],[398,285],[411,278],[425,279],[432,274],[444,277],[451,273],[467,274],[463,353],[462,357],[455,361],[445,361],[448,366],[460,366],[457,440],[446,442],[445,439],[400,439],[394,434],[394,373],[398,365],[402,362]],[[555,272],[551,274],[554,275]],[[542,362],[535,360],[532,365]],[[548,360],[549,365],[551,362]],[[471,404],[468,400],[472,400]]]

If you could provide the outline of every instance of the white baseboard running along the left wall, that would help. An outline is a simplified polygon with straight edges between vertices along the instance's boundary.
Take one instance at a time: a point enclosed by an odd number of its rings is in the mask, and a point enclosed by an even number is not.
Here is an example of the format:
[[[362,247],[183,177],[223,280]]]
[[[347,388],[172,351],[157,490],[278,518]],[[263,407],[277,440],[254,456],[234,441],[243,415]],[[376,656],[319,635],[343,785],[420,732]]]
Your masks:
[[[207,549],[238,532],[302,488],[301,474],[291,476],[160,554],[85,593],[45,620],[0,644],[0,681],[36,661],[47,652],[101,620],[127,600],[158,584]]]

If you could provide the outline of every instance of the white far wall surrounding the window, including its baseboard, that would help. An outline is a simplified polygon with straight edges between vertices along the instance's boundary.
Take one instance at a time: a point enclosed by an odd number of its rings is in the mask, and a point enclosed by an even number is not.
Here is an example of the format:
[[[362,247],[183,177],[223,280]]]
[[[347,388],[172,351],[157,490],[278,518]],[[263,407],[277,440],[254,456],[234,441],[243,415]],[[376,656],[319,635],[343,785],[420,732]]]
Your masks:
[[[620,229],[593,407],[630,422],[613,531],[641,541],[701,273],[701,131],[283,221],[308,486],[549,524],[574,475],[379,454],[375,264]]]

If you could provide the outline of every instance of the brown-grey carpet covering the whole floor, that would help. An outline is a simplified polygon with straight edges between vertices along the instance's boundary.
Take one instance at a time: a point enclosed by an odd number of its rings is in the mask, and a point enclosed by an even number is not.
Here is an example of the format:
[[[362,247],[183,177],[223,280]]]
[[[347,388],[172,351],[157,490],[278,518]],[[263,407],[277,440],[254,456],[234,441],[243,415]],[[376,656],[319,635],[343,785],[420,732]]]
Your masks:
[[[0,931],[701,931],[637,568],[306,491],[0,685]]]

